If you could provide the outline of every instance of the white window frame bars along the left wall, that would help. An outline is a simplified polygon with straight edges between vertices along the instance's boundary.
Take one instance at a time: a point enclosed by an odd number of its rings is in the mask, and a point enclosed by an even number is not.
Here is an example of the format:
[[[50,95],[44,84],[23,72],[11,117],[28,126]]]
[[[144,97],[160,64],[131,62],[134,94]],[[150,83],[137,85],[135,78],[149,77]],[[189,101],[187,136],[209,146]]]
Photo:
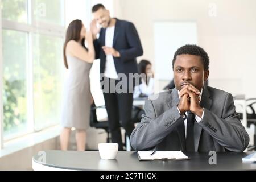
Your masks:
[[[0,68],[3,68],[3,55],[2,55],[2,30],[15,30],[26,32],[28,34],[28,59],[27,59],[27,123],[28,123],[28,131],[22,132],[22,134],[15,135],[15,137],[10,139],[4,139],[3,136],[3,69],[0,69],[0,149],[3,148],[3,143],[8,140],[18,138],[24,134],[28,134],[31,132],[35,132],[35,119],[34,119],[34,80],[33,80],[33,42],[32,36],[33,34],[52,36],[57,38],[65,38],[65,1],[63,1],[63,11],[64,11],[64,22],[63,26],[45,23],[45,22],[37,22],[32,12],[34,9],[34,1],[27,0],[27,13],[28,13],[28,21],[27,23],[18,23],[10,20],[2,20],[2,11],[0,10]],[[1,0],[0,0],[1,4]],[[52,125],[55,126],[56,124]],[[51,126],[47,126],[48,128]],[[45,129],[43,128],[43,129]]]

